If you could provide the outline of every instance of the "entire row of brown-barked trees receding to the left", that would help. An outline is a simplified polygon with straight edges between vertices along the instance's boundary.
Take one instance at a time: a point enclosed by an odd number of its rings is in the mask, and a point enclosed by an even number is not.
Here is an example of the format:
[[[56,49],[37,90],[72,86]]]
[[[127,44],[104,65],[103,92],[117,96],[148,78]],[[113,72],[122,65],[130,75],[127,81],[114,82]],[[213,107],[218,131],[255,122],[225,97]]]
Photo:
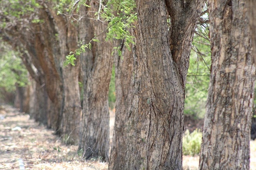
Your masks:
[[[255,65],[248,14],[253,20],[255,12],[247,12],[244,0],[209,0],[208,11],[201,12],[204,5],[205,0],[4,0],[0,36],[20,52],[33,79],[30,115],[66,143],[78,143],[86,158],[101,156],[113,170],[182,169],[190,50],[196,24],[209,12],[212,66],[200,169],[249,169]],[[75,66],[63,65],[66,56]],[[109,156],[113,59],[116,117]]]

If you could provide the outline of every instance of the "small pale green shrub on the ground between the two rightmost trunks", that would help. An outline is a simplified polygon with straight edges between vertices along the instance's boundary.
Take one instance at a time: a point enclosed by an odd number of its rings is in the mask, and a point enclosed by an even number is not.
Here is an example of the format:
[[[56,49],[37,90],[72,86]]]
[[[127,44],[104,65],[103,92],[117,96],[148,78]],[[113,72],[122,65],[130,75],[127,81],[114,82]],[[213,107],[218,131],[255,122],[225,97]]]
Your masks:
[[[189,133],[187,129],[183,135],[182,142],[183,154],[195,156],[200,153],[200,147],[202,143],[202,132],[200,131],[200,129],[196,129],[192,133]]]

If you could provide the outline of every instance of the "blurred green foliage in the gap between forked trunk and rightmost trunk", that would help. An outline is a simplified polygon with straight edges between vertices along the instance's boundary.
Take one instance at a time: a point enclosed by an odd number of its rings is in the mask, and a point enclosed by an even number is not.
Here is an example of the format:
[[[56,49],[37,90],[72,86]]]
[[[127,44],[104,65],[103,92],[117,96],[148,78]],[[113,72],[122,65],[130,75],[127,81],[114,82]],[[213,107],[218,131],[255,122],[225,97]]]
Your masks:
[[[203,118],[210,82],[211,49],[208,25],[198,25],[192,43],[184,113]]]

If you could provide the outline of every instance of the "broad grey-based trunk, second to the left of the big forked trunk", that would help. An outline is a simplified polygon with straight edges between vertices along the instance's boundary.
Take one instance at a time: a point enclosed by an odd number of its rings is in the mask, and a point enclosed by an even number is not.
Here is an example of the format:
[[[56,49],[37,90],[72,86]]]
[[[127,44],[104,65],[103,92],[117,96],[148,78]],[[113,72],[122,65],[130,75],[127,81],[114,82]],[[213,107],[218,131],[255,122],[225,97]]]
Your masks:
[[[88,1],[91,8],[80,8],[80,40],[88,43],[95,35],[106,29],[106,23],[94,18],[92,11],[98,11],[99,3],[96,0]],[[88,18],[87,18],[88,17]],[[84,80],[84,98],[82,125],[80,129],[79,150],[83,149],[86,159],[92,156],[101,156],[108,161],[109,157],[109,112],[108,88],[112,71],[112,46],[105,42],[106,35],[102,34],[92,41],[92,49],[80,56],[82,77]]]

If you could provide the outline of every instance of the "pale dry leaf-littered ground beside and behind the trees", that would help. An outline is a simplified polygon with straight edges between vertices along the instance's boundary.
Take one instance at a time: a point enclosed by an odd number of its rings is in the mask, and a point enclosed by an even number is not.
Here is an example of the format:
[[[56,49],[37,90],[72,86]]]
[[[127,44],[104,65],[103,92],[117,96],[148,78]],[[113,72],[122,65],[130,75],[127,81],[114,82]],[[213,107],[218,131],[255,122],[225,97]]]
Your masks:
[[[189,124],[192,128],[193,122]],[[114,112],[110,111],[110,141],[113,127]],[[251,141],[250,147],[251,169],[256,170],[256,141]],[[0,106],[1,170],[107,170],[106,162],[83,160],[77,150],[77,146],[62,144],[54,131],[29,119],[29,115],[8,105]],[[199,156],[183,156],[184,170],[196,170],[198,162]]]

